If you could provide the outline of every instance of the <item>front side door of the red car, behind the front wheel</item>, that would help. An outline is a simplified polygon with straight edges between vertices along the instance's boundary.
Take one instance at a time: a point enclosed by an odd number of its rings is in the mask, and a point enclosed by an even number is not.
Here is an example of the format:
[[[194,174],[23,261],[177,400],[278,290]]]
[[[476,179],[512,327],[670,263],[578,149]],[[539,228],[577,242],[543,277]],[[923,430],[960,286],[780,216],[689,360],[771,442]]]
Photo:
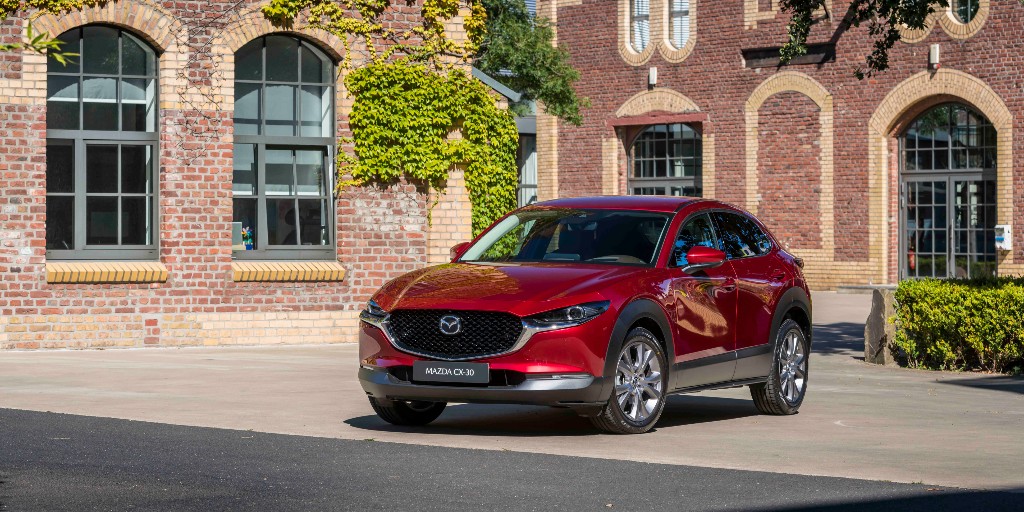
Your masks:
[[[727,381],[735,366],[736,284],[732,268],[726,263],[694,274],[684,272],[686,253],[698,245],[716,247],[714,223],[707,213],[691,215],[683,222],[669,261],[675,389]]]

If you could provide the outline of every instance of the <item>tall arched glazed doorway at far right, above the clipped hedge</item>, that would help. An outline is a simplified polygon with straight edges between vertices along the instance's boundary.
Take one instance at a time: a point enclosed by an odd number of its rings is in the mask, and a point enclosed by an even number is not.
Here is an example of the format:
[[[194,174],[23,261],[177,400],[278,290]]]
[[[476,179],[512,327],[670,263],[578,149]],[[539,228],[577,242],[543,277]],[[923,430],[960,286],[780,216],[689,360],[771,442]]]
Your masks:
[[[901,138],[904,278],[977,278],[996,270],[996,133],[961,103],[935,106]]]

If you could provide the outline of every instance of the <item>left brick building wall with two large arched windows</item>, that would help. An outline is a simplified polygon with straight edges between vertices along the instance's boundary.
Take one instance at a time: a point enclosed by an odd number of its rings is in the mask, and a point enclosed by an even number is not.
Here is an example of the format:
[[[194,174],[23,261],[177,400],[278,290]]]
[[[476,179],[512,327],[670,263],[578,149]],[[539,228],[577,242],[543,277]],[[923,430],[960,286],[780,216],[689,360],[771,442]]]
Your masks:
[[[0,349],[351,341],[469,239],[458,171],[431,223],[414,184],[334,193],[344,43],[261,5],[112,0],[33,20],[74,66],[0,54]]]

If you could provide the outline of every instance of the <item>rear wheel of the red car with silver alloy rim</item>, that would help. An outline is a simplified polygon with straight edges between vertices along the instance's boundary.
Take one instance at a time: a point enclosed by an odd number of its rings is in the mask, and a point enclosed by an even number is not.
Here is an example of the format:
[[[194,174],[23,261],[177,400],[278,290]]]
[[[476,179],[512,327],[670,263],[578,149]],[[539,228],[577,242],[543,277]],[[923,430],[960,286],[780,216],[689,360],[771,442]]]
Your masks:
[[[800,325],[786,319],[775,339],[768,381],[751,386],[751,397],[761,414],[795,415],[807,392],[807,356],[810,346]]]

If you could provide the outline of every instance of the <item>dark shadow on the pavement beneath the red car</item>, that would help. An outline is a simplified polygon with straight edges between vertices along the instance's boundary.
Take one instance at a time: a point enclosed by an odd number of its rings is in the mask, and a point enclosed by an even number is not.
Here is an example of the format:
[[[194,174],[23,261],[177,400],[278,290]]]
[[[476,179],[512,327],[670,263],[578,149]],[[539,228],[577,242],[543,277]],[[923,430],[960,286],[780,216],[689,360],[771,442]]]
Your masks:
[[[751,400],[717,396],[673,395],[665,406],[655,430],[729,421],[756,416]],[[376,415],[345,420],[345,424],[378,432],[417,432],[449,435],[581,436],[598,435],[586,418],[567,409],[535,406],[464,403],[449,406],[427,427],[391,425]]]

